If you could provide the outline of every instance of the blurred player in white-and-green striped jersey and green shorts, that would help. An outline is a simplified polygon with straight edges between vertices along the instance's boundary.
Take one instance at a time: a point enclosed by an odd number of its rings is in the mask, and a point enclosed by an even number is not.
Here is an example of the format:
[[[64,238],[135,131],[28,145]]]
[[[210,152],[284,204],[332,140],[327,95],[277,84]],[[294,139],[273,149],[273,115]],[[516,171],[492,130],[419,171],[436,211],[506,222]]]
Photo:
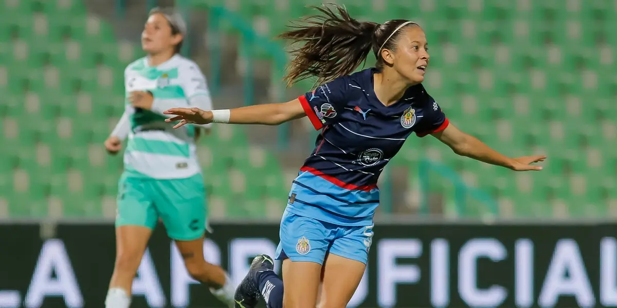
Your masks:
[[[235,286],[223,269],[204,260],[207,210],[194,144],[198,131],[194,126],[174,130],[164,121],[163,111],[173,106],[212,108],[199,67],[178,54],[185,34],[186,23],[180,15],[168,9],[152,10],[141,34],[147,57],[125,70],[126,109],[105,142],[115,154],[128,135],[107,308],[129,307],[133,278],[159,218],[183,256],[188,274],[233,307]]]

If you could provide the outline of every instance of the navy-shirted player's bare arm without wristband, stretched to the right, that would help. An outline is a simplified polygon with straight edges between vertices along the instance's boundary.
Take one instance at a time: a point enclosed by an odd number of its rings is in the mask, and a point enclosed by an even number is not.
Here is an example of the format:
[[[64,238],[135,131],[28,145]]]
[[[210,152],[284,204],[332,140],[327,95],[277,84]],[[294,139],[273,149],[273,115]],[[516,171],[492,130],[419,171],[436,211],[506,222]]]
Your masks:
[[[474,160],[483,161],[488,164],[495,164],[514,171],[540,171],[541,166],[533,165],[539,161],[546,159],[545,155],[524,156],[519,158],[509,158],[501,153],[493,150],[488,145],[481,142],[476,137],[465,134],[456,126],[450,125],[443,131],[433,134],[439,141],[448,145],[454,153],[461,156],[467,156]]]

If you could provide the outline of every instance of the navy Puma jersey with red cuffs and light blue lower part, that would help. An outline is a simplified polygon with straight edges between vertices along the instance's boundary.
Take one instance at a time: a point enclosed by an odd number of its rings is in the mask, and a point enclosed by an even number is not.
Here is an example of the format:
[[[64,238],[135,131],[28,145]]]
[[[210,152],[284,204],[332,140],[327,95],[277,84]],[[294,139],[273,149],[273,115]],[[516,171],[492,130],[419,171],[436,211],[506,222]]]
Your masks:
[[[289,212],[339,225],[371,225],[379,174],[405,139],[448,126],[421,84],[383,105],[373,91],[374,73],[370,68],[343,76],[299,97],[321,134],[293,181]]]

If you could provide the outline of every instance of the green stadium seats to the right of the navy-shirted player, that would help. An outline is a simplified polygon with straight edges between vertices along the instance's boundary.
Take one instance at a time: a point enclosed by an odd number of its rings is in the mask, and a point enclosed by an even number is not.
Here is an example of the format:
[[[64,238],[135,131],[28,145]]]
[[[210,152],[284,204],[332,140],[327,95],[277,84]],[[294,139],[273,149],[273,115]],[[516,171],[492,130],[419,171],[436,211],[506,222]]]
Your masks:
[[[478,3],[484,5],[475,7]],[[453,123],[510,155],[534,150],[549,155],[544,172],[513,175],[439,149],[447,165],[458,163],[455,169],[462,174],[474,174],[476,185],[500,204],[512,201],[513,215],[550,217],[561,209],[566,216],[603,216],[615,202],[610,190],[615,169],[607,168],[615,150],[604,134],[614,135],[615,127],[602,125],[617,110],[607,105],[615,99],[610,89],[614,62],[608,55],[615,45],[595,39],[612,35],[617,14],[607,3],[568,7],[540,1],[529,2],[528,10],[499,0],[405,1],[413,9],[396,1],[386,4],[421,21],[435,42],[429,43],[426,84]],[[553,45],[545,46],[547,41]],[[573,44],[585,47],[568,47]],[[393,163],[414,165],[417,148],[407,142],[405,159]],[[441,180],[430,185],[453,195]]]

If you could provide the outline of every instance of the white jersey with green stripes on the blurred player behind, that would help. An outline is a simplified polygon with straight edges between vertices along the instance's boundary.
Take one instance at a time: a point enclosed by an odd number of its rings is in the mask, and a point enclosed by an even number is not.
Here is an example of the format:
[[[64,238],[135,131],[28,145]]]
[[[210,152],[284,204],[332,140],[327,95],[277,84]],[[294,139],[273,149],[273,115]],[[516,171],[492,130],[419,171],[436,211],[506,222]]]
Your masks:
[[[125,172],[154,179],[183,179],[201,172],[194,144],[196,127],[173,129],[163,115],[173,107],[212,110],[205,77],[196,63],[177,54],[157,67],[150,67],[146,57],[136,60],[126,67],[125,91],[126,97],[133,91],[154,95],[151,110],[134,108],[126,99],[124,115],[112,132],[121,140],[128,135]]]

